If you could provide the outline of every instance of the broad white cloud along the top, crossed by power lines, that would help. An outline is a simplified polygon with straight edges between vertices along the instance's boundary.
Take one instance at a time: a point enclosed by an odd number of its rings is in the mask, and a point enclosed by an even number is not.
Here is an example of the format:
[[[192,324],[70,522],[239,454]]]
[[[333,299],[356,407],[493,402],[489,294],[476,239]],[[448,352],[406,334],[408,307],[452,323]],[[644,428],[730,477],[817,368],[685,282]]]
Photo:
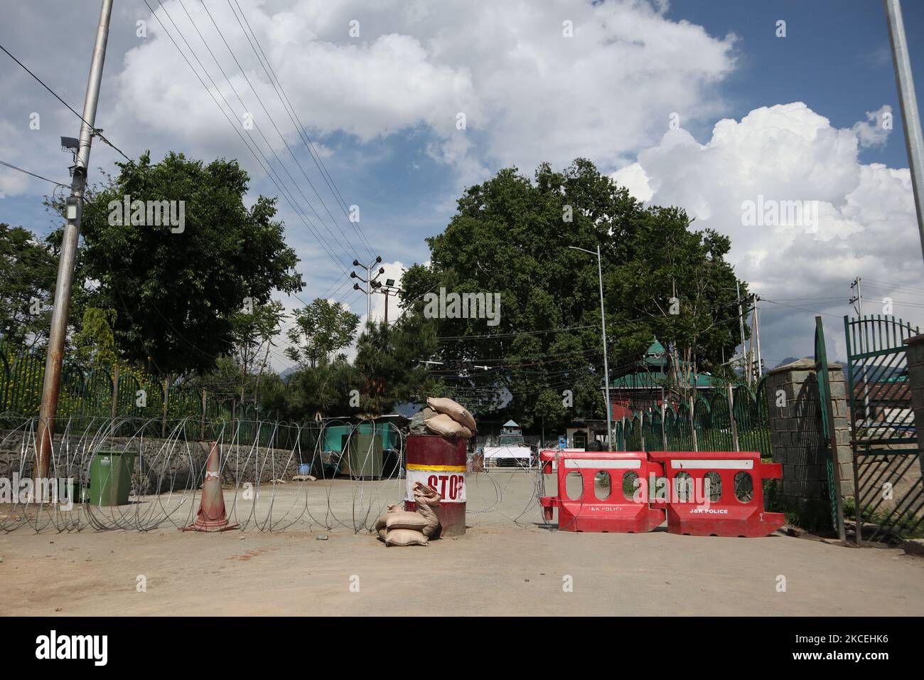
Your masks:
[[[456,167],[465,181],[480,179],[496,164],[531,171],[542,160],[561,166],[577,155],[615,167],[653,142],[672,112],[687,126],[713,117],[722,101],[712,86],[734,67],[736,39],[666,19],[661,5],[451,0],[436,11],[397,0],[376,6],[359,0],[242,2],[312,132],[346,132],[369,142],[422,127],[432,136],[432,157]],[[218,85],[215,97],[235,110],[233,118],[253,114],[269,142],[282,148],[250,91],[252,84],[280,130],[295,139],[269,78],[230,9],[219,3],[210,11],[222,35],[199,3],[168,0],[155,14],[175,38],[176,22]],[[358,38],[349,35],[353,20],[359,21]],[[565,20],[573,24],[573,37],[563,35]],[[210,149],[228,142],[237,148],[237,133],[155,19],[149,32],[128,51],[118,77],[120,124],[140,123],[149,133]],[[467,117],[467,130],[456,130],[459,113]],[[253,135],[262,142],[257,131]]]

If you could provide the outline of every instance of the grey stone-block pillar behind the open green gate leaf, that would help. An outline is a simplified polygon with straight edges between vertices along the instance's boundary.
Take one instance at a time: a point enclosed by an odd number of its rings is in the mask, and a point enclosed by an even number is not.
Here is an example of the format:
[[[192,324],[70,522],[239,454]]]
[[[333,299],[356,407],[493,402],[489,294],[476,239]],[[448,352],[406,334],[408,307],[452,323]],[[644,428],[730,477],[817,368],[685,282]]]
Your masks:
[[[837,442],[838,473],[843,496],[854,493],[850,451],[850,424],[844,373],[839,365],[828,366],[833,400],[833,428]],[[774,497],[774,508],[795,513],[797,524],[808,529],[831,527],[827,461],[830,441],[821,427],[822,404],[815,363],[799,359],[773,368],[767,374],[767,406],[773,460],[783,464],[783,479]]]

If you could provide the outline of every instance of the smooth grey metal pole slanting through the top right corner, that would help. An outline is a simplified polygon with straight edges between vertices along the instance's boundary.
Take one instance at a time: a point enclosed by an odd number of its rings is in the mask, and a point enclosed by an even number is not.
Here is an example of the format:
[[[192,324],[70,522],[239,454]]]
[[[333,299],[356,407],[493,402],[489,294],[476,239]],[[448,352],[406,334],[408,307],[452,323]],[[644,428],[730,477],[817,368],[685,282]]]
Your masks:
[[[902,6],[898,0],[884,1],[885,18],[889,24],[889,43],[892,43],[895,82],[898,85],[898,104],[902,107],[902,127],[905,129],[908,165],[911,168],[911,187],[914,190],[915,209],[918,212],[918,234],[921,250],[924,252],[924,196],[921,195],[924,192],[924,137],[921,135],[918,98],[915,96],[915,80],[911,74],[911,60],[908,58]]]

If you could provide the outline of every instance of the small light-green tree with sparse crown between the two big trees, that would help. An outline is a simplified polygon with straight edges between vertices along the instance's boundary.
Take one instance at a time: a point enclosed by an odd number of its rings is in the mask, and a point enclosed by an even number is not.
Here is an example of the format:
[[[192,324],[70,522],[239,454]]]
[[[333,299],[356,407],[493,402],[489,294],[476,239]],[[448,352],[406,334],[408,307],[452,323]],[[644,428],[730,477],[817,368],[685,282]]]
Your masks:
[[[295,326],[289,329],[292,343],[286,355],[293,361],[311,368],[322,358],[348,346],[359,326],[359,315],[346,310],[339,303],[317,298],[295,314]]]

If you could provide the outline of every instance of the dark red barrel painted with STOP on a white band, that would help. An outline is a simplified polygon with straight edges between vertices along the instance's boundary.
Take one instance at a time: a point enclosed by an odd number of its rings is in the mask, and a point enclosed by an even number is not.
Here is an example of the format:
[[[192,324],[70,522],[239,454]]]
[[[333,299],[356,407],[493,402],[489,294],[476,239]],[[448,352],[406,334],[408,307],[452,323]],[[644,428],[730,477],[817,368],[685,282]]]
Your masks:
[[[440,501],[440,536],[465,534],[466,439],[439,435],[408,435],[407,496],[405,510],[417,510],[415,482],[426,484],[443,497]]]

